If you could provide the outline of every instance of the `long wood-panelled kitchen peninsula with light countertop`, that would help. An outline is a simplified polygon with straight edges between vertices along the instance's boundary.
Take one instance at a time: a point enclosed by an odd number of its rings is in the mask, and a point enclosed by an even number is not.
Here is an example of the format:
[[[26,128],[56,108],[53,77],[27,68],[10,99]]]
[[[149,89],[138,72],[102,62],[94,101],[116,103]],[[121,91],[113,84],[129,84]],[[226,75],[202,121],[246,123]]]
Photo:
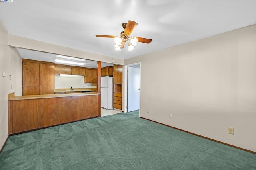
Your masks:
[[[9,135],[100,117],[100,93],[15,96],[8,94]]]

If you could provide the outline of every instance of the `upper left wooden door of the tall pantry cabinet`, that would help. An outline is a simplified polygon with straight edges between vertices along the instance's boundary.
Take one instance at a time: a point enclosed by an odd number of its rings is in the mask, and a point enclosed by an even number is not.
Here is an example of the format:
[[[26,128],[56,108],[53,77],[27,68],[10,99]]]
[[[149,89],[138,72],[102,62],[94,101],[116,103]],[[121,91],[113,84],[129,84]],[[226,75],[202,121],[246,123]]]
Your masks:
[[[24,61],[22,63],[22,85],[39,86],[40,84],[40,64]]]

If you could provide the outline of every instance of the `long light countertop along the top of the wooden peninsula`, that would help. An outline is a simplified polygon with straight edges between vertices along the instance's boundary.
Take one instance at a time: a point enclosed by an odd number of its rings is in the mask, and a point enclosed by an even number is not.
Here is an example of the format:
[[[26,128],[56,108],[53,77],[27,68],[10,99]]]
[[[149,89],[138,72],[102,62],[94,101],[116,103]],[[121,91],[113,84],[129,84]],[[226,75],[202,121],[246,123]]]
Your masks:
[[[8,98],[8,100],[28,100],[28,99],[43,99],[43,98],[63,98],[63,97],[75,97],[75,96],[91,96],[100,95],[100,93],[68,93],[68,94],[42,94],[42,95],[28,95],[28,96],[14,96]]]

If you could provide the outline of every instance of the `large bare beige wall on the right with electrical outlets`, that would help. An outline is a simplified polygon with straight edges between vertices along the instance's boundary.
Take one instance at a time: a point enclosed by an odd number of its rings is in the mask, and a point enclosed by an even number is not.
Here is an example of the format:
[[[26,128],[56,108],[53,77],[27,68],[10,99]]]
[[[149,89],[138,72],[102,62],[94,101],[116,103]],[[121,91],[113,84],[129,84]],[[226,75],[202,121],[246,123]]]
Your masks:
[[[138,62],[141,117],[256,152],[256,25],[124,61]]]

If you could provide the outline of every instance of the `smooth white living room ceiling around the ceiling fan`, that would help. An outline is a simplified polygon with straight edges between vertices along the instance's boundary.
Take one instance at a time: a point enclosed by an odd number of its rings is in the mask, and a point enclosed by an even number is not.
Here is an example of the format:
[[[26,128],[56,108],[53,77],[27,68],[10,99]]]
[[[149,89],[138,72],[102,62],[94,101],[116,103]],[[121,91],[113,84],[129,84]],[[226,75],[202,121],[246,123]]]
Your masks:
[[[9,34],[128,59],[256,24],[256,0],[13,0],[0,3],[0,19]],[[131,36],[152,42],[116,51],[95,36],[120,35],[128,20],[138,23]]]

